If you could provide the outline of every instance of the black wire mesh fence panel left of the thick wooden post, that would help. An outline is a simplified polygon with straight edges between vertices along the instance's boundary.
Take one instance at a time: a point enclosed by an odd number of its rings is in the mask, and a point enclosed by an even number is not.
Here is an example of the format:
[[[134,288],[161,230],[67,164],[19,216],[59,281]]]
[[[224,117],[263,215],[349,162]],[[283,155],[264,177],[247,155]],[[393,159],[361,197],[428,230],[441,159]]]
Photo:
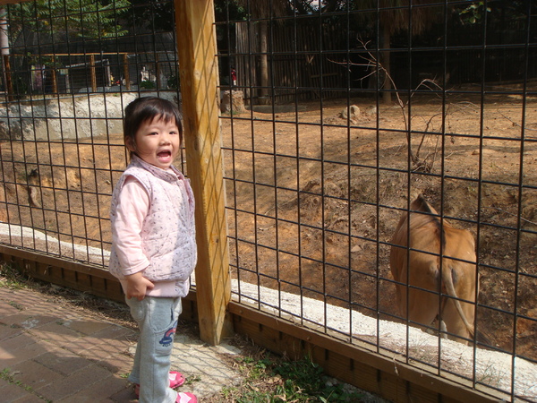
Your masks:
[[[2,242],[106,266],[124,107],[180,103],[173,2],[3,7]]]

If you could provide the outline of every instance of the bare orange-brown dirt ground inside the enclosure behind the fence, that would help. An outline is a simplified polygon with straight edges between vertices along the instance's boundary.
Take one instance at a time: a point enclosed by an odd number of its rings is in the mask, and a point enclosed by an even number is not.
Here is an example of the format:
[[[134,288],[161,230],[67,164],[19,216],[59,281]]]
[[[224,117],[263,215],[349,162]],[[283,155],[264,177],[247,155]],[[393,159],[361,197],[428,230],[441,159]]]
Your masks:
[[[478,329],[493,346],[537,359],[537,99],[502,89],[481,104],[461,92],[442,107],[427,96],[412,100],[411,119],[408,108],[380,105],[378,121],[371,99],[350,104],[360,108],[350,128],[340,116],[347,99],[301,104],[274,121],[258,112],[222,120],[227,205],[237,209],[228,210],[233,275],[393,320],[388,243],[407,195],[422,193],[478,239]],[[447,135],[430,134],[442,124]],[[1,147],[2,220],[109,249],[110,194],[125,161],[120,133]]]

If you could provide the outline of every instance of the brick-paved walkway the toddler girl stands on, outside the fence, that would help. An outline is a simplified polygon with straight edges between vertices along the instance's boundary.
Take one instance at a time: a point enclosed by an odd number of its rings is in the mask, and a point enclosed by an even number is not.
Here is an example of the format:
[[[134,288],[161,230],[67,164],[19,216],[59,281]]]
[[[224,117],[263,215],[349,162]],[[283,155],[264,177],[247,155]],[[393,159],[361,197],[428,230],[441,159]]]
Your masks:
[[[138,332],[55,303],[50,296],[0,285],[0,401],[131,402],[126,381]],[[224,355],[181,334],[172,367],[194,380],[181,388],[200,402],[241,381]]]

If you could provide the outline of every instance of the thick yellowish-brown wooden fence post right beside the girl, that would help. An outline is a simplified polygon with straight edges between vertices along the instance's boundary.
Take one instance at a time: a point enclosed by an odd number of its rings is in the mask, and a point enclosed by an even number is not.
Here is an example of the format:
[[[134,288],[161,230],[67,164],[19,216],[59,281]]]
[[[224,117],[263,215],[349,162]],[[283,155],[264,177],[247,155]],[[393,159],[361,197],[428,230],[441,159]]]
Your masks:
[[[213,0],[175,0],[186,166],[196,197],[200,338],[217,345],[232,323],[214,18]]]

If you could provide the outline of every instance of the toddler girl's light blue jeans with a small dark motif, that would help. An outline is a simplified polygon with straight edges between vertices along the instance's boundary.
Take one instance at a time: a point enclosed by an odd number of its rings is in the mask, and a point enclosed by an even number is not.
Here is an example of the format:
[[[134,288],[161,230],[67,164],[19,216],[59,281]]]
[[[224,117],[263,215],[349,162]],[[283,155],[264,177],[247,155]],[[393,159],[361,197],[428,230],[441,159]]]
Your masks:
[[[177,392],[170,389],[168,373],[181,298],[146,296],[126,302],[140,328],[129,381],[140,384],[140,403],[175,402]]]

